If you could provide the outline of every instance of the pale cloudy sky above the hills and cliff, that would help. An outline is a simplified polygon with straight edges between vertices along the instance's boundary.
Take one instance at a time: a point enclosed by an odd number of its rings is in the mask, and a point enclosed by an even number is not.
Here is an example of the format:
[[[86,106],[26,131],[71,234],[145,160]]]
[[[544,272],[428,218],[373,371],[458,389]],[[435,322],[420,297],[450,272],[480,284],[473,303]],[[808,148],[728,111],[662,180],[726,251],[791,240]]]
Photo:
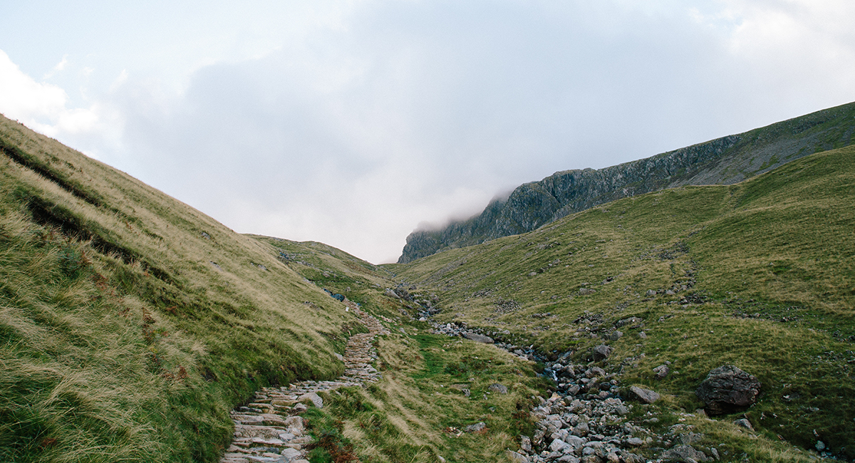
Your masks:
[[[0,5],[0,113],[374,263],[551,173],[852,101],[851,0]]]

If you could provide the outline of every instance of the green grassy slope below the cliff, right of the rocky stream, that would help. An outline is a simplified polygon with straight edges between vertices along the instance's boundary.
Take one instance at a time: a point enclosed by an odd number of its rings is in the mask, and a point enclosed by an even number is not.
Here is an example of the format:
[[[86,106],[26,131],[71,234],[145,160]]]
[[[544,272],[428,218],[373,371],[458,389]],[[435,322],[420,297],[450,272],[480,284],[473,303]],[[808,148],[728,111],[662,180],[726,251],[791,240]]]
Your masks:
[[[712,368],[740,366],[763,384],[746,413],[760,432],[852,459],[853,186],[855,149],[834,149],[386,267],[439,295],[439,322],[577,361],[608,343],[625,384],[673,396],[675,409],[703,406],[694,390]],[[656,379],[666,360],[672,372]]]

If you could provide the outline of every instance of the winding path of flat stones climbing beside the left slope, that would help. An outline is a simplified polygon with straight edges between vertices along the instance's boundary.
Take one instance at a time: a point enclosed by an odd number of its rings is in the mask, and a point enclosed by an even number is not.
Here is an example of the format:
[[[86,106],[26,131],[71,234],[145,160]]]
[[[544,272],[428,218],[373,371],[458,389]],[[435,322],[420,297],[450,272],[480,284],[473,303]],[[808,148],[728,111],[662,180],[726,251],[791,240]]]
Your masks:
[[[308,463],[306,445],[312,437],[305,434],[304,419],[300,416],[311,402],[323,407],[318,392],[341,387],[374,383],[380,373],[371,362],[377,358],[372,342],[379,334],[388,334],[380,321],[363,312],[357,304],[345,299],[369,329],[367,333],[353,335],[347,342],[345,374],[333,381],[303,381],[281,388],[263,388],[256,392],[246,407],[232,411],[234,439],[220,460],[221,463]]]

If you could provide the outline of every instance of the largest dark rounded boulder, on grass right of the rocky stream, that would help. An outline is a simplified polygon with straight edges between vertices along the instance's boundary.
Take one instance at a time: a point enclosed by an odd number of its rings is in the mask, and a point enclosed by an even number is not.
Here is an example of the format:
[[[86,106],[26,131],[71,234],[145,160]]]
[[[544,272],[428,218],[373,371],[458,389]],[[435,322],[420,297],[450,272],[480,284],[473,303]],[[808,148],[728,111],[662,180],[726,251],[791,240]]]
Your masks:
[[[724,365],[711,370],[695,394],[706,404],[706,413],[719,415],[750,407],[757,401],[760,385],[754,375]]]

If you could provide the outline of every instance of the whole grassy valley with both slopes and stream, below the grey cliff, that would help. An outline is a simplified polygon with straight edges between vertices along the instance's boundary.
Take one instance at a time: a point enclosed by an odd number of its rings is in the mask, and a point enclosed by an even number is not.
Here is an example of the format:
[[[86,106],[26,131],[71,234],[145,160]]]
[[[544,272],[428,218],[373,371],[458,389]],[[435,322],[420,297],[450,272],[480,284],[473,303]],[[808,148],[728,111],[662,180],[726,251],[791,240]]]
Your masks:
[[[855,459],[852,147],[383,266],[239,235],[11,120],[0,149],[0,460],[217,461],[252,403],[302,416],[311,461]],[[380,379],[253,402],[345,372],[348,304],[385,326]],[[758,401],[708,418],[724,364]]]

